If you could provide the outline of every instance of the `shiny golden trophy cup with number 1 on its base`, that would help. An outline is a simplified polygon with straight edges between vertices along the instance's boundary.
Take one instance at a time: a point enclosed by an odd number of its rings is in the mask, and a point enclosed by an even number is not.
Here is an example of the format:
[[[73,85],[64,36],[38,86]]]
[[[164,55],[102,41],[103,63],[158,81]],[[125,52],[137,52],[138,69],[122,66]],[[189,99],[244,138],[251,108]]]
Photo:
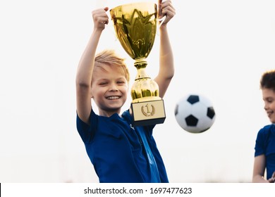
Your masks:
[[[161,124],[165,120],[164,101],[159,86],[145,72],[157,32],[157,4],[140,2],[116,6],[110,10],[116,37],[135,61],[138,74],[131,89],[135,126]]]

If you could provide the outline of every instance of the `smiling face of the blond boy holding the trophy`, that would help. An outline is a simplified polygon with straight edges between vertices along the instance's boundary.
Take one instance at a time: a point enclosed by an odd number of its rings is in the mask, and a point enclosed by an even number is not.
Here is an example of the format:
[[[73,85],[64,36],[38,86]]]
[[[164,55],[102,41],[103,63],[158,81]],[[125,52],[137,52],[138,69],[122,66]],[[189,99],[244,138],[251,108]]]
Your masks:
[[[128,81],[119,65],[99,65],[92,75],[92,98],[99,108],[99,115],[120,113],[128,94]]]

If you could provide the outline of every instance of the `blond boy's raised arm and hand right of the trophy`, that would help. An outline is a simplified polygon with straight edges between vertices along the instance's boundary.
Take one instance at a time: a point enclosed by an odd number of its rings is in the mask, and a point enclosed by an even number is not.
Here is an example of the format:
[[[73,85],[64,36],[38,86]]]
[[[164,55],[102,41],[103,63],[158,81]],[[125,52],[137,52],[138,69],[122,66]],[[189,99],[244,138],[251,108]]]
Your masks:
[[[160,46],[159,46],[159,73],[154,79],[159,85],[159,96],[164,97],[164,94],[169,87],[171,79],[174,74],[173,68],[173,51],[171,48],[169,34],[167,32],[167,23],[176,14],[175,9],[171,4],[171,0],[162,2],[159,0],[159,18],[166,15],[164,23],[161,25],[160,34]]]

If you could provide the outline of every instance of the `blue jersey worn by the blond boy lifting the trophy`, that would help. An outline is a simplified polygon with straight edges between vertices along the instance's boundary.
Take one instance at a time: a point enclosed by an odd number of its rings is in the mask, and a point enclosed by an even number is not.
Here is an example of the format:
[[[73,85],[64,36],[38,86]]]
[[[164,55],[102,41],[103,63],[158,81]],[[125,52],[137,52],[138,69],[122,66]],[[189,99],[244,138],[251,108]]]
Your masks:
[[[77,115],[77,128],[99,182],[168,182],[164,162],[152,136],[153,126],[132,127],[125,111],[120,117],[90,114],[90,125]]]

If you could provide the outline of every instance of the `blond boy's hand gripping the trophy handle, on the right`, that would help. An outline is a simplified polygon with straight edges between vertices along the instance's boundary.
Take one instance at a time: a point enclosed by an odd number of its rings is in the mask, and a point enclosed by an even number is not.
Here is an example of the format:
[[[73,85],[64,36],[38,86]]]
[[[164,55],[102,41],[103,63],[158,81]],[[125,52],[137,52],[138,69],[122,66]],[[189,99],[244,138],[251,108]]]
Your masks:
[[[176,14],[175,8],[173,8],[171,0],[163,1],[159,0],[159,13],[158,17],[161,19],[166,15],[166,18],[164,20],[164,23],[162,25],[166,25],[171,18]]]

